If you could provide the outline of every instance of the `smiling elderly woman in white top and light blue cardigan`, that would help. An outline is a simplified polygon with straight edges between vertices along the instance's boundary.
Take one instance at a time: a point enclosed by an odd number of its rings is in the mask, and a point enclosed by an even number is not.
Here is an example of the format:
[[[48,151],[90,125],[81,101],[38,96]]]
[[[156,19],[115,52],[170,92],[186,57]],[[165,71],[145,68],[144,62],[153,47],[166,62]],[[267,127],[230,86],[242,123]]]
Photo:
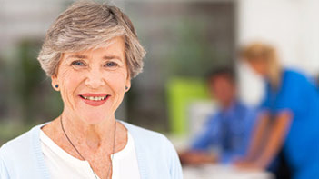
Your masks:
[[[0,149],[0,178],[182,178],[162,135],[115,119],[145,50],[117,7],[80,2],[58,16],[38,60],[63,113]]]

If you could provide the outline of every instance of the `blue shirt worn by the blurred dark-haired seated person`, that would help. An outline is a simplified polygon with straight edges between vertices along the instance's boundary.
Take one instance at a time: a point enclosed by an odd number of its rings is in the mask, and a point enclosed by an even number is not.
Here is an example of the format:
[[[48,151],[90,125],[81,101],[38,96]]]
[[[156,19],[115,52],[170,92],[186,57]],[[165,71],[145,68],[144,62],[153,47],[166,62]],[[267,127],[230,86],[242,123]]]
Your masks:
[[[219,110],[208,118],[191,149],[218,149],[220,162],[230,163],[234,156],[246,153],[255,119],[256,110],[235,102],[226,111]]]

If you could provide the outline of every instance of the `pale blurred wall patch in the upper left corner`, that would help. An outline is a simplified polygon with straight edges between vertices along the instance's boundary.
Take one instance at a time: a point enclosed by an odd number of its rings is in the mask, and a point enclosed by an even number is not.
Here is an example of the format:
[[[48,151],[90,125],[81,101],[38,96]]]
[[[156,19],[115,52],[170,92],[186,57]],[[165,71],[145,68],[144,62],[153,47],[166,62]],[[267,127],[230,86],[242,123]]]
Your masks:
[[[25,38],[43,38],[64,0],[0,0],[0,53]]]

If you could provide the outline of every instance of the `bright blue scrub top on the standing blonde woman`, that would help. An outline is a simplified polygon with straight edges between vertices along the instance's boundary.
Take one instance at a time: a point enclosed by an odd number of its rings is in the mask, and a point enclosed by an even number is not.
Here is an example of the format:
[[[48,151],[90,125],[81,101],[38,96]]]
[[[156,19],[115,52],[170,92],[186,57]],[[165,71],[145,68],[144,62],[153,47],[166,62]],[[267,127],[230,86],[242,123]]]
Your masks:
[[[289,110],[293,114],[284,141],[284,154],[294,178],[319,178],[319,94],[305,75],[284,70],[279,90],[266,85],[262,107],[272,114]]]

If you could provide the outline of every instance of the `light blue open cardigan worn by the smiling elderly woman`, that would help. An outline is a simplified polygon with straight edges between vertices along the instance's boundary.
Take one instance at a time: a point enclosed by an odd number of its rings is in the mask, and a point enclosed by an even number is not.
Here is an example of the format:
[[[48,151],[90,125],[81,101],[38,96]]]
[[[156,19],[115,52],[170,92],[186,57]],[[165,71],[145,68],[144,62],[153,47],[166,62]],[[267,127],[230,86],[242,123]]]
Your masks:
[[[182,167],[174,146],[163,134],[133,124],[121,123],[125,124],[135,140],[141,179],[183,178]],[[43,125],[36,125],[0,148],[1,179],[50,178],[39,139],[40,128]]]

